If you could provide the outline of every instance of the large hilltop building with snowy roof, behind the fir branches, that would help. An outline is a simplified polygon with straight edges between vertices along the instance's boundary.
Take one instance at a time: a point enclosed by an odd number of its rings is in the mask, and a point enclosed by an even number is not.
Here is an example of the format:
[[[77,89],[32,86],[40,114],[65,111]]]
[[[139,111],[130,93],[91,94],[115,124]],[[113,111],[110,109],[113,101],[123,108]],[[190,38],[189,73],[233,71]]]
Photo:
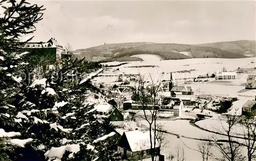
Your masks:
[[[52,62],[70,57],[65,48],[54,38],[47,42],[28,42],[25,44],[24,50],[29,51],[32,55],[48,57]]]

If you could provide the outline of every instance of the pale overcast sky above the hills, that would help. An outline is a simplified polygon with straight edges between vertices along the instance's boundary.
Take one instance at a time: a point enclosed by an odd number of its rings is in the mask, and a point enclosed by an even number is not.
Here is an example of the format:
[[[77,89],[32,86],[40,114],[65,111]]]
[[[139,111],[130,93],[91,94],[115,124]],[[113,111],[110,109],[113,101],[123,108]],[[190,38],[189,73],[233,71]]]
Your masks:
[[[34,1],[44,20],[33,41],[51,37],[73,48],[104,43],[198,44],[255,40],[255,3],[223,1]]]

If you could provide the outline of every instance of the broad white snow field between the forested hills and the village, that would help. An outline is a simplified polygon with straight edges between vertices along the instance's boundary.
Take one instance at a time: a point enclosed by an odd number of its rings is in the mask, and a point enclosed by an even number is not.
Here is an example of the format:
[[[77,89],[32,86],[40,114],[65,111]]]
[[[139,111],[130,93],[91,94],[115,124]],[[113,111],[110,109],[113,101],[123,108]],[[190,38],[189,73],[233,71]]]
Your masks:
[[[163,79],[169,78],[169,72],[182,71],[182,70],[194,70],[190,73],[173,73],[173,77],[182,78],[182,77],[197,77],[198,75],[205,75],[206,73],[214,73],[217,71],[222,71],[222,68],[225,67],[228,71],[237,70],[239,67],[242,68],[254,68],[255,64],[250,63],[251,60],[255,58],[243,58],[243,59],[218,59],[218,58],[207,58],[207,59],[184,59],[184,60],[159,60],[156,56],[144,55],[141,58],[144,58],[143,62],[129,62],[119,67],[120,71],[126,74],[137,74],[150,73],[155,77],[159,77],[161,73],[163,74]],[[153,57],[155,59],[153,59]],[[108,65],[120,64],[120,62],[110,62],[105,63]],[[154,65],[158,67],[141,67],[141,68],[127,68],[130,66],[146,66]],[[246,79],[246,77],[245,77]]]

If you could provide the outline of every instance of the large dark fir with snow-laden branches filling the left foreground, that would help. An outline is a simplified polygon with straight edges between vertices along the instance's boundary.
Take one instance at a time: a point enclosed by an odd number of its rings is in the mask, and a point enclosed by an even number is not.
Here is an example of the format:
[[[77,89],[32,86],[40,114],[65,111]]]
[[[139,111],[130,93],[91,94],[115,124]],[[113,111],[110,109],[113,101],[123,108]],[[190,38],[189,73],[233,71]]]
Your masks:
[[[106,101],[90,82],[101,66],[67,60],[30,80],[33,70],[23,61],[29,52],[19,48],[31,39],[19,37],[34,32],[44,9],[25,1],[0,5],[8,6],[0,18],[0,159],[118,160],[114,127],[93,114],[94,95]]]

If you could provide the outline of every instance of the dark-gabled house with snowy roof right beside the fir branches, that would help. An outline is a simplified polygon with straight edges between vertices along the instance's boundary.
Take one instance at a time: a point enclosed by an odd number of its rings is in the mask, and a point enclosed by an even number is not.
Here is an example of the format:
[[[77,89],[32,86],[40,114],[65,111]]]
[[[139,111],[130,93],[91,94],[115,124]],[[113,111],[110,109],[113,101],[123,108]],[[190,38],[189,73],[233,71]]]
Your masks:
[[[95,114],[98,119],[109,119],[113,125],[117,127],[123,127],[122,113],[111,104],[98,104],[95,106],[95,109]]]

